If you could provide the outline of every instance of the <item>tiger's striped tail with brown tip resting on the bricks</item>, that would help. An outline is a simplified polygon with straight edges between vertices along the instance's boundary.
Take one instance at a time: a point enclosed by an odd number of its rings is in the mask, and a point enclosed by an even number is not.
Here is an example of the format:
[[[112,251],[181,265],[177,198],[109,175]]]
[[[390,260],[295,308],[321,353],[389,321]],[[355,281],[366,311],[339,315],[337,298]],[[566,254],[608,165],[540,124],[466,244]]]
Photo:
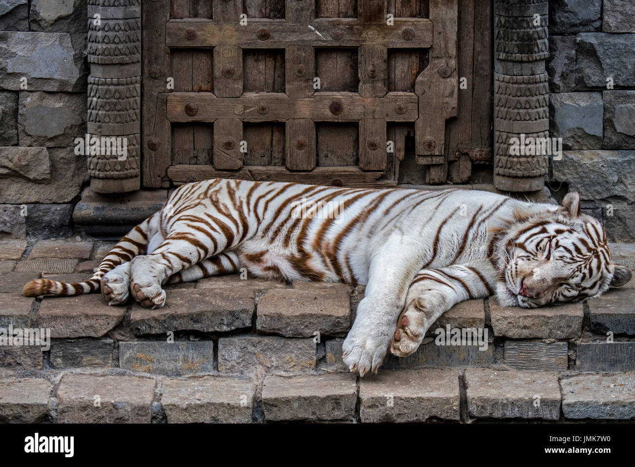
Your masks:
[[[36,279],[24,285],[22,295],[25,297],[37,297],[38,295],[69,297],[71,295],[97,292],[104,274],[108,271],[112,271],[112,269],[119,266],[119,264],[130,261],[137,255],[145,254],[150,238],[156,233],[158,226],[157,221],[160,216],[159,213],[160,212],[154,213],[121,238],[119,243],[117,243],[102,260],[97,271],[90,279],[76,283]]]

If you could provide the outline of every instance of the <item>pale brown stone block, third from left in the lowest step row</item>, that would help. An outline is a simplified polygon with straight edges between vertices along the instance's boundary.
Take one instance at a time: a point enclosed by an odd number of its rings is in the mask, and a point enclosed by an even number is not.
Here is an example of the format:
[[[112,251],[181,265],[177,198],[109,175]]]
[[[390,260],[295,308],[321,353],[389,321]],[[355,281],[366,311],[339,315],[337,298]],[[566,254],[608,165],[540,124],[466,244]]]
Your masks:
[[[161,389],[168,423],[251,423],[256,387],[249,380],[166,378]]]

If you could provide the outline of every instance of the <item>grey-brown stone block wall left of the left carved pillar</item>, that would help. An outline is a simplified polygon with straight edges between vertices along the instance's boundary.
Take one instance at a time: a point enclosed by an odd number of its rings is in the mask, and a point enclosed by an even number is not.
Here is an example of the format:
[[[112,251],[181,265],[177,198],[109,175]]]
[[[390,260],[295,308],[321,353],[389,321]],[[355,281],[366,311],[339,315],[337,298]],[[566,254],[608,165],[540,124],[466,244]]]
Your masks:
[[[0,237],[65,236],[88,180],[86,0],[0,0]]]

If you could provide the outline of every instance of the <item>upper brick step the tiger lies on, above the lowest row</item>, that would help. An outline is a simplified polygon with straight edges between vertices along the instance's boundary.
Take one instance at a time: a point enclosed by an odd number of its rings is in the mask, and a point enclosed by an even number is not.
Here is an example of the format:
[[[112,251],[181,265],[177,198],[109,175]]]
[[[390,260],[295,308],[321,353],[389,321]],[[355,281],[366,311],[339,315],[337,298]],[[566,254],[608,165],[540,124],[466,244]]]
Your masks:
[[[55,242],[36,245],[34,252],[46,255],[52,248]],[[82,248],[76,256],[90,260],[93,246]],[[0,368],[120,367],[165,376],[347,372],[342,342],[364,293],[344,284],[286,285],[237,275],[168,286],[166,306],[156,310],[107,306],[100,294],[30,299],[16,292],[41,275],[0,274],[0,328],[50,330],[51,348],[0,345]],[[413,355],[389,355],[383,367],[630,372],[634,298],[631,283],[586,304],[522,309],[498,306],[495,299],[466,301],[432,325]],[[455,339],[468,329],[480,332],[479,339]]]

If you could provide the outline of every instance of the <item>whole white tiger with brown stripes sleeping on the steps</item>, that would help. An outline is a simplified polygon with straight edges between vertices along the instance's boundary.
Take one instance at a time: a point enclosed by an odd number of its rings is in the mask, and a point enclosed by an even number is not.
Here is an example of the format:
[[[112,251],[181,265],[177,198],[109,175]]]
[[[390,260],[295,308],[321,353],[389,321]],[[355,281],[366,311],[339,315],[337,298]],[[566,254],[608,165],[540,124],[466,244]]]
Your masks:
[[[176,189],[124,236],[85,282],[30,281],[23,294],[97,291],[163,306],[163,284],[246,267],[264,278],[366,284],[343,360],[363,376],[387,349],[413,353],[458,302],[496,294],[525,308],[596,297],[624,285],[604,229],[561,206],[464,189],[420,191],[213,179]]]

